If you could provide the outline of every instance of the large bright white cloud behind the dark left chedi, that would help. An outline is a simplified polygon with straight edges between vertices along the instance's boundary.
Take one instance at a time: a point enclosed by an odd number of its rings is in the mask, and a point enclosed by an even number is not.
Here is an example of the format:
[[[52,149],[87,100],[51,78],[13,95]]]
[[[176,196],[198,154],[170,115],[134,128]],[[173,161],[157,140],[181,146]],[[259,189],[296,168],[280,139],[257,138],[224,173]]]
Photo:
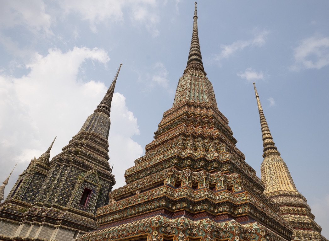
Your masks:
[[[51,156],[60,153],[101,101],[107,90],[104,83],[78,79],[81,65],[88,60],[106,64],[109,56],[97,48],[75,47],[66,53],[50,49],[47,55],[35,54],[34,61],[26,65],[29,73],[25,76],[13,77],[4,70],[0,72],[0,165],[3,167],[0,176],[7,176],[3,171],[19,163],[6,193],[31,158],[38,158],[56,135]],[[119,125],[121,136],[114,133],[115,151],[122,152],[120,146],[130,148],[129,153],[116,160],[118,164],[128,163],[127,156],[135,158],[142,152],[130,138],[139,133],[137,120],[125,106],[122,95],[114,95],[112,107],[112,129],[118,128],[115,127],[118,122],[124,124]]]

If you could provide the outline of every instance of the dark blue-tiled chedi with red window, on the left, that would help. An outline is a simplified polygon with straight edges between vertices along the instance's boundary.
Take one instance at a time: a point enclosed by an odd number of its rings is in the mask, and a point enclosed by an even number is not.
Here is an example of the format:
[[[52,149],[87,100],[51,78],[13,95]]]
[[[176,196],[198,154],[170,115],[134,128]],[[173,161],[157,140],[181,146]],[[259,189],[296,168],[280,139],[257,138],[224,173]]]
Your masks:
[[[49,161],[53,142],[19,175],[0,205],[1,240],[74,240],[98,228],[94,214],[109,202],[115,184],[108,137],[120,67],[94,113],[62,152]]]

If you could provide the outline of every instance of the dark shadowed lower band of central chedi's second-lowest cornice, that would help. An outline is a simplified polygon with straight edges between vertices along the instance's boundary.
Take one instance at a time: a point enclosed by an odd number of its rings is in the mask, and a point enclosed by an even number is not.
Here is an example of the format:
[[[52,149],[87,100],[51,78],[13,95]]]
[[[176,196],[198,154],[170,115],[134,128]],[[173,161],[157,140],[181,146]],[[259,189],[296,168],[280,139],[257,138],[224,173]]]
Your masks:
[[[144,201],[140,205],[131,206],[129,208],[117,209],[104,215],[99,215],[97,216],[97,224],[99,224],[100,227],[104,229],[106,227],[112,226],[111,223],[117,222],[119,220],[121,220],[122,223],[126,224],[129,224],[131,222],[134,223],[134,221],[132,220],[134,216],[137,216],[136,220],[138,220],[138,215],[143,215],[149,212],[154,212],[156,210],[162,209],[173,212],[173,215],[175,215],[175,212],[187,210],[191,213],[192,216],[193,213],[195,213],[196,215],[197,213],[206,211],[207,213],[209,213],[212,219],[214,218],[213,215],[216,216],[225,213],[228,213],[235,217],[250,215],[251,217],[255,218],[256,220],[259,220],[267,226],[272,227],[274,230],[281,234],[284,234],[285,236],[289,235],[289,233],[292,233],[293,230],[293,227],[287,221],[278,216],[276,213],[272,213],[274,214],[274,216],[272,216],[271,213],[266,213],[264,210],[259,209],[250,202],[236,205],[232,203],[229,198],[227,198],[226,201],[214,204],[209,200],[191,202],[186,197],[172,200],[167,196],[163,196],[162,198],[157,197],[153,200]],[[129,218],[130,221],[125,221],[126,218]]]

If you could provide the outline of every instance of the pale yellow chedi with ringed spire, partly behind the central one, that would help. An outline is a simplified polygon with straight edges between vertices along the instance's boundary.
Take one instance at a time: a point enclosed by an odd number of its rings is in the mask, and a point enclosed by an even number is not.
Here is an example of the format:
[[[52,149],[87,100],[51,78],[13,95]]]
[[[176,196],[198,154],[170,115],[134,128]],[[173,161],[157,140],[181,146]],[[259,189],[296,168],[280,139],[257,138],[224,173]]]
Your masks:
[[[320,232],[321,227],[314,221],[314,215],[306,199],[293,183],[287,164],[274,145],[271,132],[264,116],[255,83],[259,117],[263,139],[263,157],[261,164],[262,181],[265,183],[264,194],[279,207],[278,213],[294,228],[293,240],[326,240]]]

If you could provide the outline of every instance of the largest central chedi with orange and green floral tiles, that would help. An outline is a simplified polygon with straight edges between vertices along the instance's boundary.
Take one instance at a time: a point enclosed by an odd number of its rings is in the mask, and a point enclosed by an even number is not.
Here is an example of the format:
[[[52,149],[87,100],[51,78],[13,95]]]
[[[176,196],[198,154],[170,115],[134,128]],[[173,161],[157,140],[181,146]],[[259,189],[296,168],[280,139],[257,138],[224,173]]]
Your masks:
[[[196,5],[187,66],[126,184],[79,240],[291,240],[293,227],[236,147],[203,67]]]

